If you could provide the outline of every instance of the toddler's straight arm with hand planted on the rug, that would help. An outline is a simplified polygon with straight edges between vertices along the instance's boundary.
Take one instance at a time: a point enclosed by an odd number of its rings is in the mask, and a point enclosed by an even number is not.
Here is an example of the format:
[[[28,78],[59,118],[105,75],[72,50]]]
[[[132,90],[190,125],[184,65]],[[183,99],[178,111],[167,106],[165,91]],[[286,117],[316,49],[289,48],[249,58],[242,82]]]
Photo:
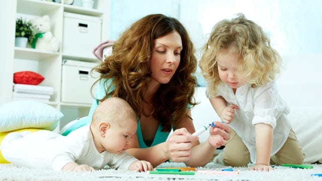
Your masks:
[[[271,125],[260,123],[255,125],[256,165],[252,170],[269,171],[271,150],[273,145],[273,128]]]

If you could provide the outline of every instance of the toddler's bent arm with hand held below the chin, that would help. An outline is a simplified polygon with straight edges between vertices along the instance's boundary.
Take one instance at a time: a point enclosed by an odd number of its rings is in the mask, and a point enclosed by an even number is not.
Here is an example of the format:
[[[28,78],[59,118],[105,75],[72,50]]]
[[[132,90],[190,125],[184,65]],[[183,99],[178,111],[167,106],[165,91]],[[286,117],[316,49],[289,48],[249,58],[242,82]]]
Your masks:
[[[216,111],[221,121],[229,124],[234,119],[234,109],[239,109],[236,105],[226,106],[226,100],[224,100],[221,96],[214,97],[209,99],[213,109]]]

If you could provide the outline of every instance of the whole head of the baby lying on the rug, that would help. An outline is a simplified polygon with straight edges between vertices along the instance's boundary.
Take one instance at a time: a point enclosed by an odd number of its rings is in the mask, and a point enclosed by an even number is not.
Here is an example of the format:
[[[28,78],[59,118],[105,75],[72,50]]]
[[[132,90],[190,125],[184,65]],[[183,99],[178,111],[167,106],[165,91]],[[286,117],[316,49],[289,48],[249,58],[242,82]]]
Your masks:
[[[104,100],[96,108],[91,123],[95,146],[101,153],[121,153],[136,134],[137,120],[131,106],[121,98]]]

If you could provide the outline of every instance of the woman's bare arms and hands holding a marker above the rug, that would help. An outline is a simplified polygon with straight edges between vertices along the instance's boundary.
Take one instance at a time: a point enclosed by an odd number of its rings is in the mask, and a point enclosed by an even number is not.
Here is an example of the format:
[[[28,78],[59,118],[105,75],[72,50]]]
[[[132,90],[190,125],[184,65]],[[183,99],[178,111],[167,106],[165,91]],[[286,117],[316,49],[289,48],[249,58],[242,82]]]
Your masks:
[[[187,115],[191,115],[190,111]],[[176,125],[168,141],[149,148],[138,148],[137,138],[133,138],[128,153],[139,160],[149,161],[153,167],[168,159],[185,162],[187,166],[204,166],[212,158],[215,149],[225,145],[229,139],[230,128],[227,124],[215,122],[216,127],[211,127],[208,141],[200,144],[198,136],[191,135],[195,128],[188,116]]]

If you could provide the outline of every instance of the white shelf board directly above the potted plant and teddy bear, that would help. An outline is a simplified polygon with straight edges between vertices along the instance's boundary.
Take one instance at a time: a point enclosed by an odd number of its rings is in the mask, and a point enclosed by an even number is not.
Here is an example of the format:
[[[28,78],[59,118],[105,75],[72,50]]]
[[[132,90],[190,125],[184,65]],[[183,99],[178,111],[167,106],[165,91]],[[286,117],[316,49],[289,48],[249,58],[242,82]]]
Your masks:
[[[18,0],[17,13],[42,16],[61,7],[60,3],[51,3],[39,0]]]

